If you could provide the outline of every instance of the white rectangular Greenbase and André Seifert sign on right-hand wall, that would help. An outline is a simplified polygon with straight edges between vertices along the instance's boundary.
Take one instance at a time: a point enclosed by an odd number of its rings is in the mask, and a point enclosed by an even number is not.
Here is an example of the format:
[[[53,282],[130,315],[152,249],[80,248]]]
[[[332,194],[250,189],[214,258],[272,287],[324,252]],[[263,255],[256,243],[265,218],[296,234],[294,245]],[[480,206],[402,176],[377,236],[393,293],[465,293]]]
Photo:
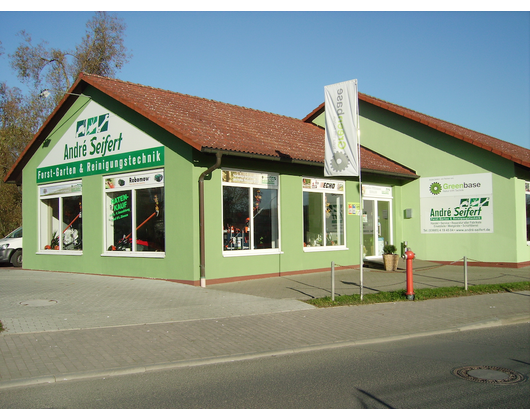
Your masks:
[[[422,233],[493,233],[491,173],[420,178]]]

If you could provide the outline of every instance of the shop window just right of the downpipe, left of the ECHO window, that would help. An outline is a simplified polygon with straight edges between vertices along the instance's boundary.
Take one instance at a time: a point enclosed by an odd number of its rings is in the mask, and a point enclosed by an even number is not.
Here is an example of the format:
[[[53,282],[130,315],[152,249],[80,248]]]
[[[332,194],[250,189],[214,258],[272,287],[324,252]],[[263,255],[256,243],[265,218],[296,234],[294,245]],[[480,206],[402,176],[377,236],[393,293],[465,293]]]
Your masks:
[[[278,250],[278,175],[223,170],[222,176],[223,250]]]

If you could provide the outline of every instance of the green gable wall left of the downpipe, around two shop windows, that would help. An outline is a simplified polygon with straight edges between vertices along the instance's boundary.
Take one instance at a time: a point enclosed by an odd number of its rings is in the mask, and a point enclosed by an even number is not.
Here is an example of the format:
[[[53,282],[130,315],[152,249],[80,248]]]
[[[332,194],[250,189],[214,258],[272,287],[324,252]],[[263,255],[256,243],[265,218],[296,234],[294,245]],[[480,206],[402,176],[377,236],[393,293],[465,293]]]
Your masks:
[[[57,131],[49,138],[47,148],[40,148],[23,171],[23,225],[24,268],[67,272],[86,272],[119,276],[169,278],[193,281],[198,278],[198,216],[197,182],[193,178],[191,147],[168,134],[136,112],[124,107],[95,90],[86,95],[112,113],[132,122],[138,129],[149,134],[166,146],[165,151],[165,258],[139,258],[102,256],[103,244],[103,200],[102,175],[83,177],[83,253],[82,255],[38,254],[38,187],[35,171],[41,160],[57,143],[67,127],[75,121],[86,105],[79,98],[62,121]]]

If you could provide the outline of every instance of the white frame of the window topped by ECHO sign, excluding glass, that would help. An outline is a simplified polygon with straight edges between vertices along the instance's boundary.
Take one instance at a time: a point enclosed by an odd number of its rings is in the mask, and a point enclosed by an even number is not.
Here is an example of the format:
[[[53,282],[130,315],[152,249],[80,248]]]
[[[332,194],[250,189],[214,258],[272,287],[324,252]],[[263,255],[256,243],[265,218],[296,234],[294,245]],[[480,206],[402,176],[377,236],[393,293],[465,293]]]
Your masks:
[[[322,244],[313,246],[306,243],[305,238],[305,214],[304,214],[304,193],[321,194],[322,202],[322,233],[325,236],[327,231],[326,222],[326,194],[339,195],[342,197],[342,245],[328,245],[322,237]],[[302,177],[302,243],[304,252],[323,252],[323,251],[344,251],[347,250],[346,235],[346,181],[337,179],[322,179],[313,177]]]

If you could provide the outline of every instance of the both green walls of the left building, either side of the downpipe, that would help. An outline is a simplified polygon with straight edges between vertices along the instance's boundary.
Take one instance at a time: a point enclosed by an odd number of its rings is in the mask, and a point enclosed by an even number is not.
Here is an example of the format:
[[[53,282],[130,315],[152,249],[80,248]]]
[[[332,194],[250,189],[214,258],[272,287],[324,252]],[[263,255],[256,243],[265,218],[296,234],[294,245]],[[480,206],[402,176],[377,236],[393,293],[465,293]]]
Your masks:
[[[192,150],[180,139],[106,95],[89,89],[85,92],[100,105],[165,146],[165,229],[164,258],[108,256],[104,253],[103,175],[84,176],[83,180],[83,252],[82,255],[39,253],[38,185],[35,171],[47,153],[57,144],[69,125],[76,121],[87,104],[79,98],[49,138],[47,148],[40,148],[23,171],[24,194],[24,267],[28,269],[95,273],[131,277],[165,278],[198,282],[199,255],[199,184],[203,171],[215,163],[215,157]],[[206,279],[274,276],[280,273],[329,269],[359,264],[359,218],[346,217],[348,249],[304,252],[302,177],[323,178],[323,168],[301,167],[280,162],[223,156],[223,167],[280,174],[281,253],[253,256],[224,256],[222,236],[221,169],[205,180],[205,272]],[[346,202],[358,202],[358,184],[348,180]]]

